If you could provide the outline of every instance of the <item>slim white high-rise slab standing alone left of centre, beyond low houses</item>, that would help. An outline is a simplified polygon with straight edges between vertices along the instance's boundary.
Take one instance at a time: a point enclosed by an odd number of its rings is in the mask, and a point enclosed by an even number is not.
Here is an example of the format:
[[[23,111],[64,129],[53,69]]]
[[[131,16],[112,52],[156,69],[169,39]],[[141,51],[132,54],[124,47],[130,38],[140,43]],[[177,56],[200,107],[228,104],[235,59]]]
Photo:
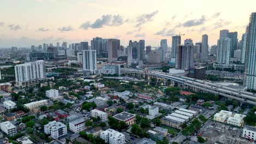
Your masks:
[[[83,70],[90,70],[95,74],[97,70],[96,50],[83,50]]]

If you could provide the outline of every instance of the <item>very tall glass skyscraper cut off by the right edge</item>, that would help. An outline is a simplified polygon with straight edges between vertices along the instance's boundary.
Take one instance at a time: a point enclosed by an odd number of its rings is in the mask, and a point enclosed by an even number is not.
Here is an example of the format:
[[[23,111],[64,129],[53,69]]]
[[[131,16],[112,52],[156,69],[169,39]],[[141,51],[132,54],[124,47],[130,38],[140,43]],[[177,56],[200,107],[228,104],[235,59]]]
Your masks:
[[[256,89],[256,12],[250,16],[246,40],[245,81],[247,89]]]

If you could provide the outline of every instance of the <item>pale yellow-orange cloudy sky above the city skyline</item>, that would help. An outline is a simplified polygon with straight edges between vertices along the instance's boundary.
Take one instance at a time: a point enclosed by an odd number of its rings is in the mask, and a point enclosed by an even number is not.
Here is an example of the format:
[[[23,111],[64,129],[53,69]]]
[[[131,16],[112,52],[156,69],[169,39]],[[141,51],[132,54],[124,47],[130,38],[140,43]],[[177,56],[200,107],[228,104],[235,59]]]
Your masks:
[[[208,34],[217,44],[220,29],[238,32],[240,40],[256,11],[255,0],[0,0],[0,47],[68,44],[94,37],[144,39],[159,46],[173,35],[199,42]],[[90,45],[90,43],[89,43]]]

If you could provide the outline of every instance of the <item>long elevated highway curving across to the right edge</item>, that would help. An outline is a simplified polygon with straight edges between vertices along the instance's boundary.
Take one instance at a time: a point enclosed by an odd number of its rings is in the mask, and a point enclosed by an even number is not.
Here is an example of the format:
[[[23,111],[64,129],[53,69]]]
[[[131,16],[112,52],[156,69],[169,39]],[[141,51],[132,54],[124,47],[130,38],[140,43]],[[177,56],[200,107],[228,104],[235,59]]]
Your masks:
[[[179,87],[193,88],[194,91],[205,91],[214,94],[219,94],[224,97],[231,99],[236,99],[242,103],[248,103],[256,105],[256,94],[251,92],[246,92],[241,89],[234,89],[225,86],[218,85],[216,83],[192,79],[190,77],[179,76],[174,74],[162,73],[154,70],[142,70],[142,69],[127,69],[121,68],[121,74],[134,74],[143,75],[144,77],[159,77],[160,79],[171,80],[177,82]]]

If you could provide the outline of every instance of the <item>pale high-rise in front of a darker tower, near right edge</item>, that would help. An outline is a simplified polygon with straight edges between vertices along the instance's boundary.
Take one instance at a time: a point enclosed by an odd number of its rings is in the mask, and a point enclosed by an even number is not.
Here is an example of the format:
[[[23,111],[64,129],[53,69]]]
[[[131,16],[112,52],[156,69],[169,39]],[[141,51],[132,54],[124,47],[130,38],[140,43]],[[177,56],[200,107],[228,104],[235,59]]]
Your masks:
[[[217,63],[229,65],[232,39],[220,38],[218,40]]]

